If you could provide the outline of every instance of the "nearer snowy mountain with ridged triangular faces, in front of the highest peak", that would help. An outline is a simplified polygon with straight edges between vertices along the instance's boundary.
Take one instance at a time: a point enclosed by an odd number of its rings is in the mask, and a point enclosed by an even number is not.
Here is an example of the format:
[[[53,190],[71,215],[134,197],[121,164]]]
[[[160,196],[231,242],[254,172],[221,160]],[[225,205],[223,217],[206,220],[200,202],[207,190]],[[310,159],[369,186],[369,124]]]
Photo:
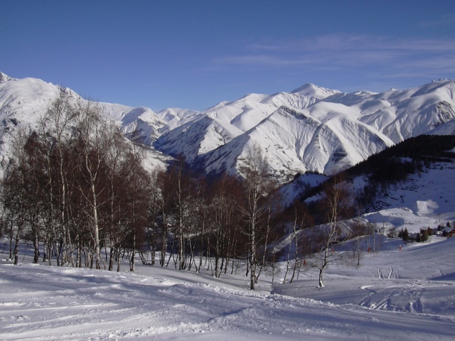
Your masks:
[[[307,110],[280,107],[250,131],[213,151],[203,160],[205,170],[226,168],[223,165],[239,169],[248,148],[258,144],[277,179],[289,180],[306,171],[333,174],[393,144],[349,114],[338,112],[323,119]]]

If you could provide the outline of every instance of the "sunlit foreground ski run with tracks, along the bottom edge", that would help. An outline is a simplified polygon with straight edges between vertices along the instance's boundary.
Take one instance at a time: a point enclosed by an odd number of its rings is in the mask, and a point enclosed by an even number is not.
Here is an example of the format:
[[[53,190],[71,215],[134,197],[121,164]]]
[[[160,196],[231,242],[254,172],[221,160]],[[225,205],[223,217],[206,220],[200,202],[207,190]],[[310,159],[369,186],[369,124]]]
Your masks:
[[[30,266],[0,266],[0,339],[347,341],[368,335],[367,340],[382,341],[400,335],[414,341],[453,336],[449,318],[383,311],[410,310],[399,309],[407,305],[397,301],[403,291],[393,280],[363,287],[370,296],[361,307],[108,271],[93,278],[83,269],[44,266],[33,269],[38,281],[30,283],[31,271]],[[422,301],[422,308],[412,308],[424,311],[428,286],[408,284],[407,291],[413,288],[410,292]],[[367,314],[364,307],[370,308]],[[454,307],[446,309],[455,315]]]

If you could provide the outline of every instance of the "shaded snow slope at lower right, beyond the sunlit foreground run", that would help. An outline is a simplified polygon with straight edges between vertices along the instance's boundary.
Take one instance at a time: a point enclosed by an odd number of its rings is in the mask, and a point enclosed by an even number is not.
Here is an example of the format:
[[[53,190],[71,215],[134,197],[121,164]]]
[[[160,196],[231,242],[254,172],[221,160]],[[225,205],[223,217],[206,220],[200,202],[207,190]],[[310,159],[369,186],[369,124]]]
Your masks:
[[[362,306],[367,315],[375,310],[408,317],[445,315],[453,320],[455,304],[451,296],[455,276],[451,264],[455,259],[454,245],[453,238],[432,237],[429,244],[403,244],[397,238],[382,239],[378,243],[379,251],[365,252],[359,267],[332,266],[328,269],[327,275],[331,279],[323,290],[312,285],[311,278],[316,281],[317,274],[307,270],[295,285],[275,286],[273,292],[337,305]],[[454,328],[446,332],[448,339],[455,335]],[[395,340],[399,340],[402,335],[396,337]],[[417,340],[432,340],[432,334],[419,335]]]

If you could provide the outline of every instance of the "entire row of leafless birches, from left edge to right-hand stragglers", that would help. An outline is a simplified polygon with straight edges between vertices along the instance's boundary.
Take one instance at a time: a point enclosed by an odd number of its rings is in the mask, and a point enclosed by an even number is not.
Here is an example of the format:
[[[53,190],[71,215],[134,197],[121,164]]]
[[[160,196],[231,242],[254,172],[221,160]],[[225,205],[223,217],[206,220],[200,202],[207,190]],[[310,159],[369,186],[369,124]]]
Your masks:
[[[310,226],[304,205],[280,206],[257,145],[248,150],[242,179],[196,176],[183,158],[147,172],[140,149],[95,102],[55,99],[38,129],[18,134],[4,173],[0,237],[9,237],[14,263],[23,240],[33,245],[34,263],[58,266],[117,264],[119,271],[127,259],[134,271],[137,257],[151,265],[156,258],[160,266],[205,267],[219,277],[242,261],[254,289],[266,264],[278,260],[270,245]],[[322,255],[314,261],[321,286],[344,195],[336,183],[326,193],[328,229],[311,243],[293,240],[295,264],[302,254]]]

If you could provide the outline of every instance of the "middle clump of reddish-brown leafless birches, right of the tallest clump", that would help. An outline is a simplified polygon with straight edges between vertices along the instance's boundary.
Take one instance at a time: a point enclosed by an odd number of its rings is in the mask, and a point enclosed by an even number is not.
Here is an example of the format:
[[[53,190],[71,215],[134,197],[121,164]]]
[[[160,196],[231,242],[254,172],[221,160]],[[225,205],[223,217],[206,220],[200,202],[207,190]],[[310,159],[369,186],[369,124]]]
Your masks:
[[[242,261],[255,288],[281,210],[259,146],[249,149],[242,171],[243,180],[225,174],[209,181],[177,158],[167,171],[152,174],[146,244],[161,266],[171,260],[181,270],[206,266],[219,277]]]

